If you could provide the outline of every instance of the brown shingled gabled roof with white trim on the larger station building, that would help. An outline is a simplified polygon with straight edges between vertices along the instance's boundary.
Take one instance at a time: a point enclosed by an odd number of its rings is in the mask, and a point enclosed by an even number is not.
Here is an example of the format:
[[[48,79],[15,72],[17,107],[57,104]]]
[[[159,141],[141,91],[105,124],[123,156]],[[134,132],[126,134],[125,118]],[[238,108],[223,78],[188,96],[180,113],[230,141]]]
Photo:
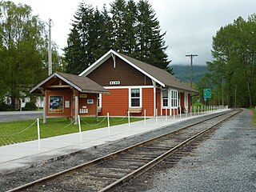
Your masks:
[[[145,74],[147,77],[154,80],[154,82],[158,82],[161,86],[170,86],[181,90],[188,90],[190,92],[198,93],[197,90],[194,90],[192,87],[187,85],[186,83],[182,82],[178,78],[175,78],[172,74],[169,74],[166,70],[162,70],[156,66],[152,66],[150,64],[147,64],[146,62],[138,61],[135,58],[130,58],[129,56],[126,56],[125,54],[120,54],[114,50],[109,50],[106,54],[102,56],[102,58],[99,58],[98,61],[94,62],[90,67],[88,67],[86,70],[84,70],[79,76],[87,76],[90,74],[93,70],[95,70],[98,66],[102,65],[103,62],[106,62],[106,60],[112,55],[118,56],[118,58],[121,58],[123,61],[127,62],[130,66],[133,66],[135,69],[142,72],[142,74]]]

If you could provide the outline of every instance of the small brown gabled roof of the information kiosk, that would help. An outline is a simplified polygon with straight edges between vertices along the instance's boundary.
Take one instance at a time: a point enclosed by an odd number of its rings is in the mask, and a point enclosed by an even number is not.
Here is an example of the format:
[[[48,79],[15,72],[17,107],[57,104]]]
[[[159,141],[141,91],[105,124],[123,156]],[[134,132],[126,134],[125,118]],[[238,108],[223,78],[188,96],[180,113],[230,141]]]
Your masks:
[[[49,82],[50,79],[56,77],[61,79],[63,82],[66,82],[70,87],[73,87],[75,90],[78,90],[81,93],[109,94],[108,90],[98,85],[98,83],[90,80],[90,78],[60,72],[55,72],[42,82],[38,83],[37,86],[34,86],[34,88],[30,90],[30,93],[33,93],[34,91],[42,88],[43,86],[46,86],[46,82]]]

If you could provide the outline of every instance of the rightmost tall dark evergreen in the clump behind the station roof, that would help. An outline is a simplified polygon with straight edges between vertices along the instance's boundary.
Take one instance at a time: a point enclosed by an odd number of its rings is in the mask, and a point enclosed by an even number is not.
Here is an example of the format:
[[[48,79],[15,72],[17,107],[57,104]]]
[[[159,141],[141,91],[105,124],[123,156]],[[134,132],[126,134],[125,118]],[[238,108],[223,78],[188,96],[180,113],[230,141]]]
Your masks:
[[[161,29],[154,10],[148,1],[140,0],[138,2],[138,56],[143,62],[158,66],[164,70],[170,71],[168,56],[165,53],[167,46],[161,34]]]

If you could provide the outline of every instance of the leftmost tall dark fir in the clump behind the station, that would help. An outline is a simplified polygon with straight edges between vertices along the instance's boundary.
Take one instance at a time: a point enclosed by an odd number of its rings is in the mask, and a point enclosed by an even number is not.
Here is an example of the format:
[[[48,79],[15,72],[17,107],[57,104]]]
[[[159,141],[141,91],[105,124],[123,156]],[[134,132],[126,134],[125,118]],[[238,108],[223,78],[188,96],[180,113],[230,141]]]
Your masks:
[[[91,45],[94,42],[91,41],[92,31],[90,29],[93,18],[93,8],[80,3],[74,15],[73,28],[70,31],[67,46],[64,48],[67,62],[66,73],[79,74],[94,62]]]

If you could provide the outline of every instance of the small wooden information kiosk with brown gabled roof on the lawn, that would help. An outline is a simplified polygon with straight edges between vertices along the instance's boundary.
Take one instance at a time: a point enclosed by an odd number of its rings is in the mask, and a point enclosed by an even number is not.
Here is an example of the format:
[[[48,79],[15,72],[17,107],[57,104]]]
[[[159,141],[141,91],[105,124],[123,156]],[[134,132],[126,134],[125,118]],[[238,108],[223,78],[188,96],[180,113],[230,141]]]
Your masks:
[[[46,118],[98,116],[99,94],[109,94],[109,91],[90,78],[54,73],[34,86],[30,93],[42,94],[43,121],[46,122]]]

